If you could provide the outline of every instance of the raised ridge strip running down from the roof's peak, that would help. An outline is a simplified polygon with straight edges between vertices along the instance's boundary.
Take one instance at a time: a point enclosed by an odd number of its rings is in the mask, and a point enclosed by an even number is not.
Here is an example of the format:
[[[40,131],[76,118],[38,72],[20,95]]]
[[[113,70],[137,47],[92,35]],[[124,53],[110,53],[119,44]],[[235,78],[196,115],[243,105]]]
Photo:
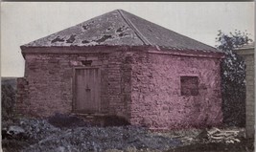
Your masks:
[[[151,41],[148,40],[139,30],[132,24],[132,22],[125,16],[122,10],[117,10],[128,26],[134,31],[134,33],[141,39],[145,45],[151,45]]]

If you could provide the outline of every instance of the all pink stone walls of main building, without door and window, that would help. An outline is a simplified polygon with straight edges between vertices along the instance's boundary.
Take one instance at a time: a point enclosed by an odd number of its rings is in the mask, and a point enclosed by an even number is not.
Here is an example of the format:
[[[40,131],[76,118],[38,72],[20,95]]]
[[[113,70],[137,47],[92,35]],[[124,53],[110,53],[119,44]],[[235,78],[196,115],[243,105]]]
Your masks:
[[[25,54],[16,109],[34,117],[73,113],[74,68],[92,60],[91,66],[101,67],[102,115],[159,130],[221,124],[220,55],[123,50]],[[180,76],[198,77],[197,96],[181,95]]]

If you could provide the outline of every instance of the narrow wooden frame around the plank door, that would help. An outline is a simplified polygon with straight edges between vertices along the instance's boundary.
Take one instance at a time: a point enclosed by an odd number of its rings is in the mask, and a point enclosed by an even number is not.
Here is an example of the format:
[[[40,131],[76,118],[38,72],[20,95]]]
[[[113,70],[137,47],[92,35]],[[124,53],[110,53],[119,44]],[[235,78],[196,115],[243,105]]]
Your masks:
[[[81,113],[81,112],[78,112],[76,110],[76,100],[77,100],[77,92],[76,92],[76,70],[78,69],[98,69],[98,74],[99,74],[99,78],[100,78],[100,81],[99,81],[99,111],[98,113],[101,113],[101,100],[102,100],[102,88],[101,88],[101,81],[102,81],[102,75],[101,75],[101,67],[100,66],[90,66],[90,67],[73,67],[73,76],[72,76],[72,113],[77,113],[77,114],[86,114],[86,113]],[[98,114],[97,113],[97,114]]]

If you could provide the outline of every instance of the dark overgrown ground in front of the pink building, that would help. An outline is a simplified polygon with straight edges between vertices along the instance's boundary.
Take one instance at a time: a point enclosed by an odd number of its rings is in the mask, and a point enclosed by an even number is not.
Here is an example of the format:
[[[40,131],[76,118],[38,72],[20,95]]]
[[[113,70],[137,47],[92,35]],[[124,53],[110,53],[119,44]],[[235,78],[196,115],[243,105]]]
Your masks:
[[[48,119],[10,119],[2,123],[2,147],[6,152],[254,151],[254,140],[244,139],[244,128],[191,128],[160,133],[143,127],[108,124],[98,126],[63,115]],[[227,132],[232,135],[228,137]],[[215,134],[222,138],[214,139]]]

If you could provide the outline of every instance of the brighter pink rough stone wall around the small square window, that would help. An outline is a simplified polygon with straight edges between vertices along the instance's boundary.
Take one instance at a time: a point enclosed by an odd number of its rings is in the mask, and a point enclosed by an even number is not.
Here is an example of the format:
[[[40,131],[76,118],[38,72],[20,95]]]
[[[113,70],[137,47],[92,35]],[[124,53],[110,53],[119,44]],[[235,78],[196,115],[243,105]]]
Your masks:
[[[136,53],[131,67],[132,124],[160,130],[221,124],[220,59]],[[181,96],[180,76],[198,76],[198,96]]]

